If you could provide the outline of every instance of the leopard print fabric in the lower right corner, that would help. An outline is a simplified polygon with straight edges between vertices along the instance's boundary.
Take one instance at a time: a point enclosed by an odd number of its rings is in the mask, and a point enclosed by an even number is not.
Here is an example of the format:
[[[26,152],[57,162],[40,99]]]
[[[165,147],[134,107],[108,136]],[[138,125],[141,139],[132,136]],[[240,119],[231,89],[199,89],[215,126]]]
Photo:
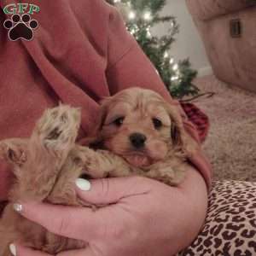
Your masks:
[[[177,256],[255,256],[256,183],[213,183],[206,223]]]

